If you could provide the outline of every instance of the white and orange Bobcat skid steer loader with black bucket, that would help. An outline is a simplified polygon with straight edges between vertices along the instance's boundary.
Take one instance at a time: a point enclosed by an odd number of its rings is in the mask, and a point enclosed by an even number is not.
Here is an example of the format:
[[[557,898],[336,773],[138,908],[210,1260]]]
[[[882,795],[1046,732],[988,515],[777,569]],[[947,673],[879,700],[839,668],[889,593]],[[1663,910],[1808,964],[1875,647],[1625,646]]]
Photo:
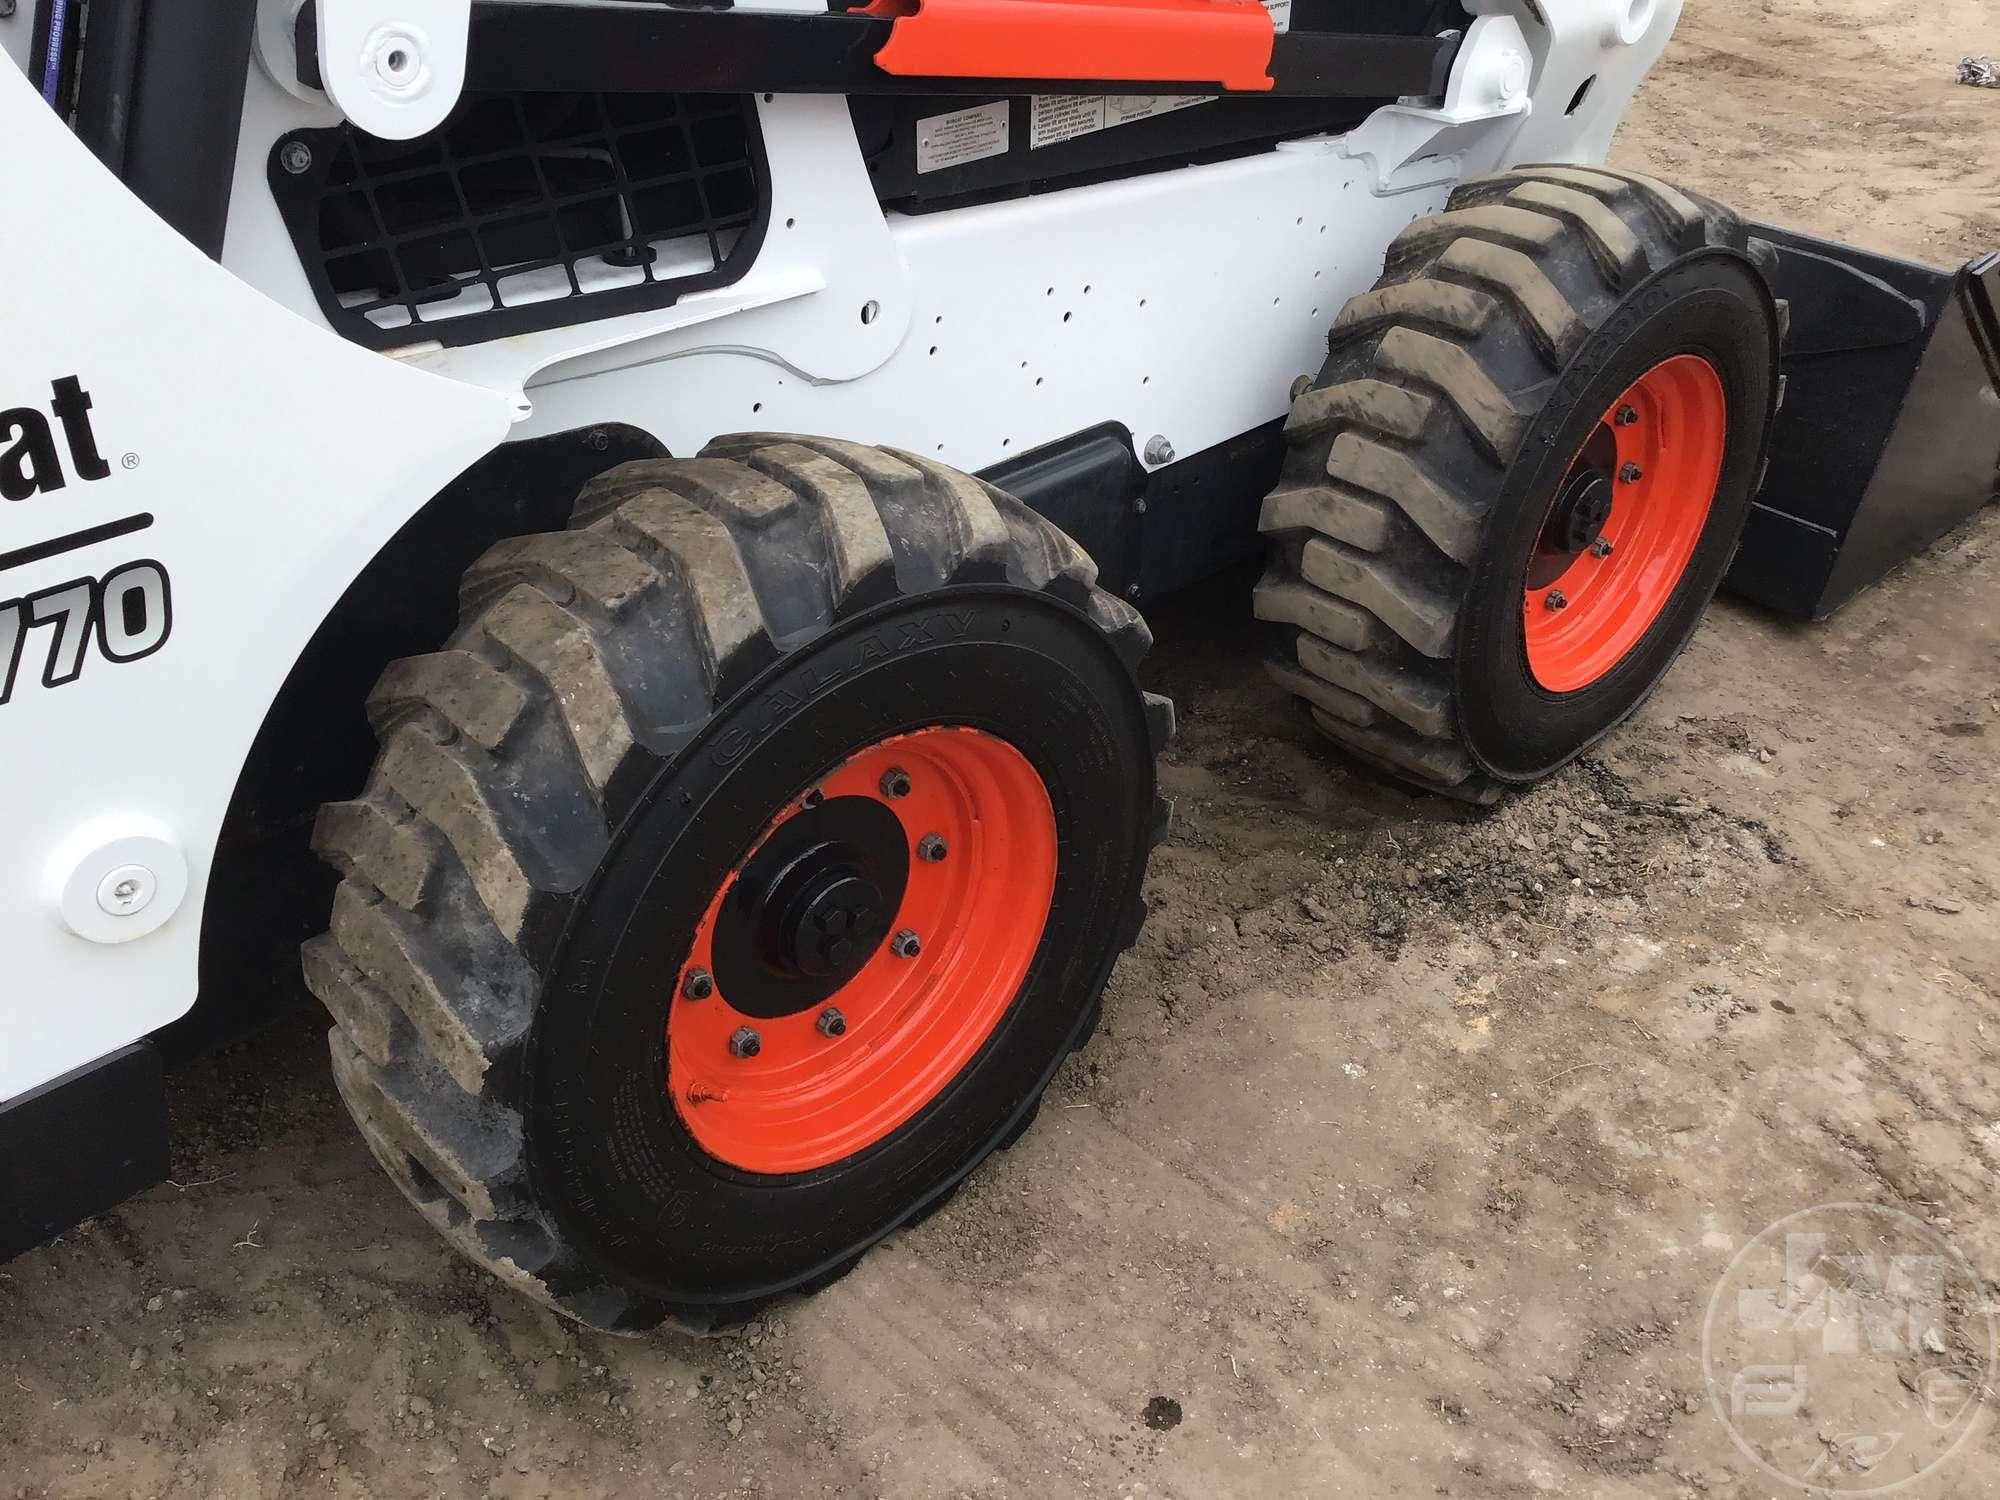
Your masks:
[[[726,1324],[1090,1036],[1138,604],[1492,802],[1992,498],[1990,262],[1600,166],[1678,10],[0,0],[0,1254],[302,952],[452,1244]]]

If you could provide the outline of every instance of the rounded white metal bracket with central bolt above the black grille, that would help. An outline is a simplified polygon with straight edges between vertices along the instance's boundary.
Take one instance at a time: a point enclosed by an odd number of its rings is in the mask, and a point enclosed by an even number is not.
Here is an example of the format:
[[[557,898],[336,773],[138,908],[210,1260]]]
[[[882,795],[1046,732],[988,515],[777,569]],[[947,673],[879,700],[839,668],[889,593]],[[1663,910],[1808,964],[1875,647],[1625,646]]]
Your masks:
[[[472,0],[320,0],[320,76],[356,128],[410,140],[466,86]]]

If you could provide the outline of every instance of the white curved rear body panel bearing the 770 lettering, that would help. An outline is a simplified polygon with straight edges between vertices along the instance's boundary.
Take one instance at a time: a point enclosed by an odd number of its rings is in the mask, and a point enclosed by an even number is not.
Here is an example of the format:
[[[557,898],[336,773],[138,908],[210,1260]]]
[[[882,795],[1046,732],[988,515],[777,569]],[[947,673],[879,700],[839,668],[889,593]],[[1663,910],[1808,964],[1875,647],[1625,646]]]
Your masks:
[[[366,354],[284,312],[138,204],[12,68],[0,226],[0,406],[78,376],[110,474],[0,512],[0,552],[150,514],[146,530],[0,572],[0,600],[158,560],[172,634],[130,664],[86,652],[42,686],[28,630],[0,706],[0,1098],[144,1036],[194,1002],[202,886],[236,772],[320,618],[370,556],[506,436],[504,396]],[[18,196],[14,196],[18,194]],[[126,466],[130,464],[130,468]],[[164,828],[188,864],[170,922],[76,936],[70,868],[114,830]],[[76,848],[80,830],[82,850]],[[102,830],[102,840],[96,830]]]

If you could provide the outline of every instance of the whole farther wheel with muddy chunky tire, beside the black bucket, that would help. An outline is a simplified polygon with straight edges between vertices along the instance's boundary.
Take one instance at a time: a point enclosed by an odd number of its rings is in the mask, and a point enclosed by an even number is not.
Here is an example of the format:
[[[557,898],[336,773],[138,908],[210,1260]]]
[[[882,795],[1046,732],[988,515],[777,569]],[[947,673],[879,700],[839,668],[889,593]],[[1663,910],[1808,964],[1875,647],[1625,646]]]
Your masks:
[[[1722,582],[1762,474],[1784,322],[1770,264],[1728,210],[1602,168],[1466,182],[1448,212],[1396,238],[1292,406],[1260,522],[1272,560],[1256,614],[1280,626],[1268,670],[1340,748],[1486,804],[1646,700]],[[1538,548],[1558,492],[1574,494],[1586,444],[1624,394],[1680,356],[1722,388],[1712,502],[1656,598],[1638,610],[1598,600],[1644,628],[1562,676],[1528,628],[1530,600],[1568,608],[1530,572],[1548,562]],[[1622,442],[1598,438],[1604,454]],[[1670,432],[1658,450],[1676,442]],[[1610,466],[1604,496],[1634,468]],[[1638,504],[1620,500],[1626,514]]]

